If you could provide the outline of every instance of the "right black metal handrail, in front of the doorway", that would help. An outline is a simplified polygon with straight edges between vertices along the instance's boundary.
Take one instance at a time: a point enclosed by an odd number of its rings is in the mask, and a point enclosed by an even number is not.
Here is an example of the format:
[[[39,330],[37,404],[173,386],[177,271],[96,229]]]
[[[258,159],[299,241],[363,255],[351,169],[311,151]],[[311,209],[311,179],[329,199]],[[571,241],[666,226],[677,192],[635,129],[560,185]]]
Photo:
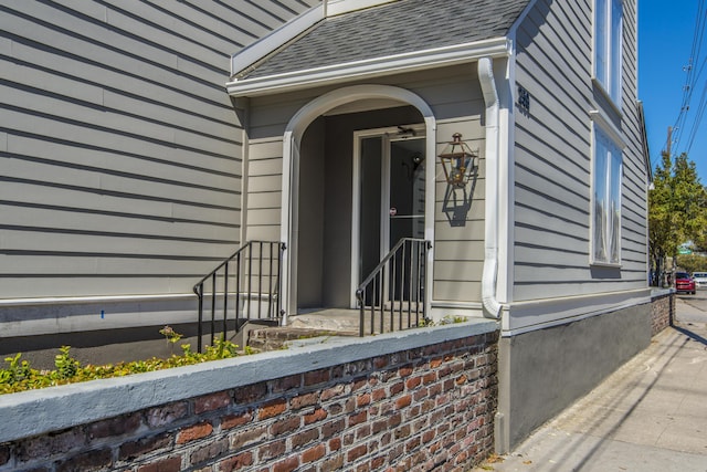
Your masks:
[[[420,325],[426,318],[425,281],[430,241],[403,238],[363,280],[356,291],[360,314],[359,335],[393,332]],[[378,319],[377,319],[378,317]],[[398,318],[398,319],[395,319]],[[388,322],[388,323],[387,323]]]

